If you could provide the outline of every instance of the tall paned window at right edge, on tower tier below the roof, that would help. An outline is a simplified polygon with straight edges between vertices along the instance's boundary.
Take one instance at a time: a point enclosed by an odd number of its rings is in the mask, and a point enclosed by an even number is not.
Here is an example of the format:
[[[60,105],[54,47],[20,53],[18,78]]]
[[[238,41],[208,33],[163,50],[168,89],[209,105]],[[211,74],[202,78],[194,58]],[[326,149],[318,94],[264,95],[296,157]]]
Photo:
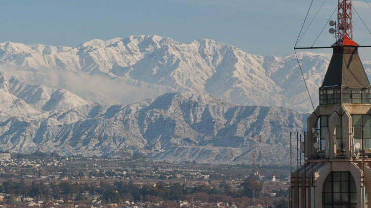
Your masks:
[[[354,142],[359,143],[361,145],[360,147],[361,151],[365,150],[366,152],[371,153],[371,115],[353,114],[352,125]]]

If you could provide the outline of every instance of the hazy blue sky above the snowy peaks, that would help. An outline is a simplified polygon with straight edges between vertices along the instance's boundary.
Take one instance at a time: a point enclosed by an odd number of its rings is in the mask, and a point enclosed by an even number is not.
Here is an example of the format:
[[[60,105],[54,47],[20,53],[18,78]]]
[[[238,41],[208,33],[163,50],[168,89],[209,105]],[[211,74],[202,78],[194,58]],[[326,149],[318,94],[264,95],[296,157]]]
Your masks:
[[[354,0],[353,0],[354,1]],[[286,55],[293,45],[311,0],[135,0],[135,1],[3,1],[0,42],[77,46],[85,41],[158,34],[187,43],[208,38],[249,53]],[[314,0],[312,20],[324,0]],[[371,3],[371,0],[368,0]],[[311,46],[335,9],[324,7],[299,43]],[[354,6],[371,29],[371,9],[365,0]],[[332,19],[335,19],[333,16]],[[305,27],[304,27],[305,28]],[[316,46],[335,40],[326,25]],[[354,14],[354,39],[371,45],[371,34]],[[370,49],[362,49],[368,58]],[[368,51],[367,51],[368,50]],[[314,51],[318,52],[318,51]],[[326,52],[326,51],[324,51]]]

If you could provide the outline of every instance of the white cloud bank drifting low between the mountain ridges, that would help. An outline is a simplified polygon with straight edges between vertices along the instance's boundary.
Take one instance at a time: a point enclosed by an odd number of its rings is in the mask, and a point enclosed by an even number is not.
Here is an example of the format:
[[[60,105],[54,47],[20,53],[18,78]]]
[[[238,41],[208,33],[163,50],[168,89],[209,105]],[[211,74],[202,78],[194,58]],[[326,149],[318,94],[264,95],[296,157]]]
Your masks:
[[[40,69],[34,72],[26,68],[3,64],[0,65],[0,70],[28,83],[69,90],[88,101],[99,102],[99,99],[104,98],[99,96],[99,94],[102,94],[120,103],[131,104],[173,91],[170,87],[157,88],[125,78],[111,79],[83,72],[55,70],[52,68]]]

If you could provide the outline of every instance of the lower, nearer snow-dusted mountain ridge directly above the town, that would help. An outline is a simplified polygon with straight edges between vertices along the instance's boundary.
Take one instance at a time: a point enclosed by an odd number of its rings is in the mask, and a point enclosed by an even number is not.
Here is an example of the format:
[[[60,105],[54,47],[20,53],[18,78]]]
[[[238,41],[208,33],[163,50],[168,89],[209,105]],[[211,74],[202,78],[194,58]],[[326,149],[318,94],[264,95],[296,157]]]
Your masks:
[[[306,115],[271,107],[235,106],[210,95],[167,93],[133,105],[101,106],[73,93],[5,76],[0,87],[0,148],[60,155],[131,157],[213,163],[251,163],[262,135],[264,162],[288,161],[288,133],[302,131]]]

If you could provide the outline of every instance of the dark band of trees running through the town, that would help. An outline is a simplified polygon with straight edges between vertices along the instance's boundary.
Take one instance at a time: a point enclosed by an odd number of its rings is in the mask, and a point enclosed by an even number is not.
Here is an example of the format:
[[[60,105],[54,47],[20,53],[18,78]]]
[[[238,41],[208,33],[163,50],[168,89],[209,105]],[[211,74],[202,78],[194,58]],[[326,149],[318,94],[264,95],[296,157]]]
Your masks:
[[[164,183],[138,185],[130,182],[115,181],[114,183],[73,183],[73,182],[45,182],[45,181],[4,181],[0,185],[0,192],[11,197],[22,195],[30,196],[36,200],[48,201],[52,198],[65,198],[86,200],[87,194],[97,195],[103,202],[113,203],[122,201],[175,201],[175,200],[200,200],[200,201],[244,201],[251,200],[253,190],[260,192],[258,184],[251,179],[246,179],[238,188],[233,188],[226,181],[218,185],[200,184],[187,186],[180,183]],[[287,198],[287,191],[277,190],[276,199]],[[274,200],[274,199],[273,199]]]

